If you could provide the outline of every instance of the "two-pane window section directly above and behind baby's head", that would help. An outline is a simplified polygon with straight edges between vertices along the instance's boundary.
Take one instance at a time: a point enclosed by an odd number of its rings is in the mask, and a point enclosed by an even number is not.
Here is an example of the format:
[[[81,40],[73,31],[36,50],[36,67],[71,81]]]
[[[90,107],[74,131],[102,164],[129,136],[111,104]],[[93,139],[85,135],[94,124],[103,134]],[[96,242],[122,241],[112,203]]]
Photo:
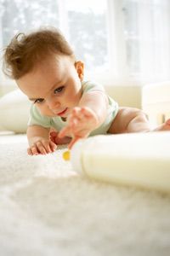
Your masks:
[[[1,3],[3,46],[17,32],[57,26],[86,67],[104,67],[107,56],[106,2],[101,0],[6,0]]]

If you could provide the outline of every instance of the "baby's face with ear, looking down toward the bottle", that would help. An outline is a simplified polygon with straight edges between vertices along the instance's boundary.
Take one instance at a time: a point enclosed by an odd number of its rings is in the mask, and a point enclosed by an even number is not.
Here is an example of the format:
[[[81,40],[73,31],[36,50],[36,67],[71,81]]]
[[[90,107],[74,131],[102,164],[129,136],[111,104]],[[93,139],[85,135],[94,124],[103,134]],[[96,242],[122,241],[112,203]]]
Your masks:
[[[16,82],[43,115],[66,118],[82,96],[82,62],[54,55]],[[79,74],[78,74],[79,73]]]

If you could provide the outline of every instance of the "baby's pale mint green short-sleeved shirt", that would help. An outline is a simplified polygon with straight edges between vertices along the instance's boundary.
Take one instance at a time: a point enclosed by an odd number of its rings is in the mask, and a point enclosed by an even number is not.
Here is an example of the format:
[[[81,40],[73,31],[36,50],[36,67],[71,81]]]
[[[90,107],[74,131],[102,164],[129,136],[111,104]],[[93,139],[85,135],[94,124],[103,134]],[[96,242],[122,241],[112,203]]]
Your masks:
[[[84,93],[94,90],[105,91],[103,86],[100,84],[90,81],[82,82],[82,95]],[[99,126],[99,128],[92,131],[90,133],[90,136],[106,134],[112,124],[112,121],[115,119],[116,113],[118,112],[118,104],[110,96],[108,96],[108,100],[109,106],[107,109],[107,116],[105,118],[105,121],[102,125]],[[40,110],[38,110],[37,106],[34,103],[31,105],[30,119],[28,125],[41,125],[47,128],[54,127],[56,131],[60,131],[62,128],[65,127],[66,123],[67,122],[62,120],[59,116],[48,117],[42,115],[42,113],[40,112]]]

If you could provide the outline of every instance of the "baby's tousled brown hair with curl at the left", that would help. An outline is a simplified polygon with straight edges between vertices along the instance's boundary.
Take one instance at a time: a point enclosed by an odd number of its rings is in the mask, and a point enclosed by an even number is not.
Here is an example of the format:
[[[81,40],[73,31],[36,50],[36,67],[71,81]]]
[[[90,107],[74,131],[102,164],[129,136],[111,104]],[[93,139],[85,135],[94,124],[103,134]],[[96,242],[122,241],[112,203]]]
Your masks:
[[[75,59],[70,44],[54,28],[42,28],[28,35],[17,34],[4,49],[3,72],[11,79],[20,79],[49,55],[69,55]]]

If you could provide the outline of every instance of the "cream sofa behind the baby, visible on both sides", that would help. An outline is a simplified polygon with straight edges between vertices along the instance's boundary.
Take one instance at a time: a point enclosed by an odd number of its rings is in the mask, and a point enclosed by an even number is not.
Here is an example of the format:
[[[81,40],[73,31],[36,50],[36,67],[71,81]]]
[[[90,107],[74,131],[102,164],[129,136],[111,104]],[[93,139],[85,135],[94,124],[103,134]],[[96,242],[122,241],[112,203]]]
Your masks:
[[[152,125],[160,124],[170,113],[170,82],[162,84],[107,85],[106,92],[120,106],[143,108],[148,113]],[[26,132],[31,102],[20,91],[14,90],[0,99],[0,129]]]

